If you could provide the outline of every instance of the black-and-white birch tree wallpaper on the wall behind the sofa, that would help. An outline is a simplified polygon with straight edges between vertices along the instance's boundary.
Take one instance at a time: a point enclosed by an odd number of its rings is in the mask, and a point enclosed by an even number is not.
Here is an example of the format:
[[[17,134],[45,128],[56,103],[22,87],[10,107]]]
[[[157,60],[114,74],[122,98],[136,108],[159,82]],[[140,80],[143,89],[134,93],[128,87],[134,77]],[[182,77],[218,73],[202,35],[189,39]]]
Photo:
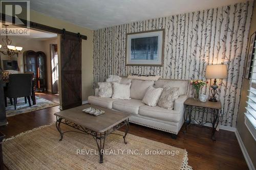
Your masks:
[[[131,73],[205,80],[206,65],[227,64],[228,78],[218,82],[221,125],[236,127],[252,6],[239,3],[94,31],[94,88],[109,75]],[[157,29],[165,29],[163,66],[125,66],[126,33]],[[209,95],[209,85],[204,92]]]

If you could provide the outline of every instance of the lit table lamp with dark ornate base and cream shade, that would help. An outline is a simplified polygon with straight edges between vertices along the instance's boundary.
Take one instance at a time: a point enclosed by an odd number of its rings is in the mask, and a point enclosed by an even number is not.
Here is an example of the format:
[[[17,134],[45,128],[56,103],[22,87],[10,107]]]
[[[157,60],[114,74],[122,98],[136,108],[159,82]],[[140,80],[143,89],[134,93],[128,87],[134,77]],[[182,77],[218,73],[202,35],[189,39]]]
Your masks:
[[[216,79],[226,79],[227,78],[227,65],[224,64],[218,64],[218,65],[207,65],[206,66],[206,72],[205,72],[205,78],[206,79],[214,79],[214,84],[212,84],[210,87],[211,89],[211,96],[209,101],[210,102],[217,102],[216,94],[217,89],[219,86],[216,84]]]

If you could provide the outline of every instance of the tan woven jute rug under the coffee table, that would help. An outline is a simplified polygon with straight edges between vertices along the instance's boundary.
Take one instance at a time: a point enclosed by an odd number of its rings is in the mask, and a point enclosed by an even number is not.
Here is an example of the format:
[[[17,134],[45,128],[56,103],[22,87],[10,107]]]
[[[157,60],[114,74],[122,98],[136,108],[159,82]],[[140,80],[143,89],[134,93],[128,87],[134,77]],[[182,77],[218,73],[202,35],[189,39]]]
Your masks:
[[[73,130],[66,125],[61,126],[63,131]],[[116,133],[123,134],[120,131]],[[105,140],[103,163],[100,164],[97,145],[92,136],[68,132],[59,141],[55,125],[48,125],[5,139],[4,164],[9,169],[26,170],[192,169],[187,164],[187,152],[184,149],[132,134],[127,134],[126,141],[128,143],[124,144],[122,136],[109,135]],[[157,150],[165,153],[157,154]]]

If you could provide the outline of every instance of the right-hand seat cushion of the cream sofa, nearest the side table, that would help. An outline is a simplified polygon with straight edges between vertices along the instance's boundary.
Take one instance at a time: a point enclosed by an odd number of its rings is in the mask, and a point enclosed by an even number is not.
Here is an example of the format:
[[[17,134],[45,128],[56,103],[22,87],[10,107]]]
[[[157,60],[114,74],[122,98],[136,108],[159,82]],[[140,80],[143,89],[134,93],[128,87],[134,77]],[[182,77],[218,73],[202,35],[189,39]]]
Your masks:
[[[172,122],[179,122],[182,118],[180,111],[163,109],[159,106],[152,107],[146,105],[139,108],[139,115]]]

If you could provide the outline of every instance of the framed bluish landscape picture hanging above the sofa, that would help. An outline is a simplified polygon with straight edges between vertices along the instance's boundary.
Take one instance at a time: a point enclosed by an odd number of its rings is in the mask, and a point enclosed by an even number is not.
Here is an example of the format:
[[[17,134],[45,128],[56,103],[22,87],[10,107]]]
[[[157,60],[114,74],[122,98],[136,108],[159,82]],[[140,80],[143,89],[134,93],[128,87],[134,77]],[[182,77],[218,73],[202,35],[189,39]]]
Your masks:
[[[164,29],[126,34],[126,65],[163,65]]]

